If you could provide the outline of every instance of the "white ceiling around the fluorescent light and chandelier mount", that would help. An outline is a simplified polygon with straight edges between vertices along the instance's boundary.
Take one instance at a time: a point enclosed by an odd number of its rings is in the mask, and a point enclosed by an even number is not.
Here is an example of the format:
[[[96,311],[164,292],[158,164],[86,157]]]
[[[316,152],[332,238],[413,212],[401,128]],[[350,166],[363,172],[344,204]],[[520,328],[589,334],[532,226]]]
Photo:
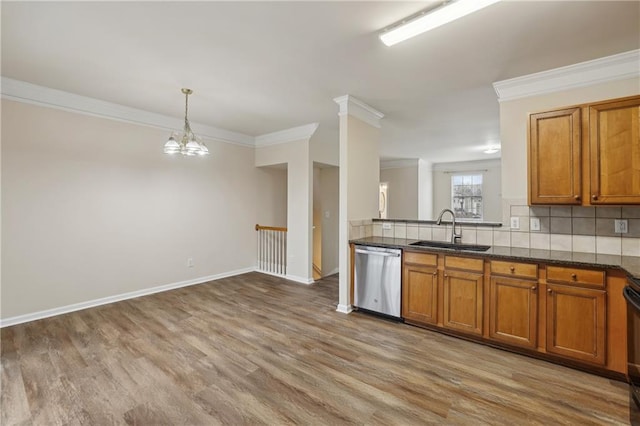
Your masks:
[[[250,136],[385,114],[381,156],[449,162],[499,143],[494,81],[640,48],[639,1],[503,1],[392,47],[440,2],[2,1],[2,76]]]

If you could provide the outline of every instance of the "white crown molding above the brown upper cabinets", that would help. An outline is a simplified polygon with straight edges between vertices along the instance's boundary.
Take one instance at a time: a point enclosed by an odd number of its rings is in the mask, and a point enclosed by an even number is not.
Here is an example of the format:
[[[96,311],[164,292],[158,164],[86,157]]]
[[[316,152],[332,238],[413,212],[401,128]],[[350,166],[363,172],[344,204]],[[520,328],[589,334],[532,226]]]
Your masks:
[[[535,74],[496,81],[498,101],[511,101],[561,90],[640,76],[640,50],[605,56]]]

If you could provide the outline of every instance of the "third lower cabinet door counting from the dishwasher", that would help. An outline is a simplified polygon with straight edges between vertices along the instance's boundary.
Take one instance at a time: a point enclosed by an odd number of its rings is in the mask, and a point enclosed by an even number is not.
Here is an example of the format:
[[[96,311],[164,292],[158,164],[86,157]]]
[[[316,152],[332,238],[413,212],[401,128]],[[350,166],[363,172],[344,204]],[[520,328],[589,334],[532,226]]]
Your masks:
[[[489,336],[505,343],[535,348],[538,283],[492,277],[489,294]]]

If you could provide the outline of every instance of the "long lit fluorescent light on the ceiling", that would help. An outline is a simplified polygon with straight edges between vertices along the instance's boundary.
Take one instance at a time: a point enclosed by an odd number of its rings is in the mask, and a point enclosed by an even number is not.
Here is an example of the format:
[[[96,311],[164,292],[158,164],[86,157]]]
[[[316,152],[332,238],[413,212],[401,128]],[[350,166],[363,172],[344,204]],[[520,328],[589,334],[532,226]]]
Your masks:
[[[402,22],[389,31],[380,34],[380,40],[387,46],[393,46],[425,31],[455,21],[477,10],[483,9],[500,0],[452,0],[437,9],[423,12],[414,19]]]

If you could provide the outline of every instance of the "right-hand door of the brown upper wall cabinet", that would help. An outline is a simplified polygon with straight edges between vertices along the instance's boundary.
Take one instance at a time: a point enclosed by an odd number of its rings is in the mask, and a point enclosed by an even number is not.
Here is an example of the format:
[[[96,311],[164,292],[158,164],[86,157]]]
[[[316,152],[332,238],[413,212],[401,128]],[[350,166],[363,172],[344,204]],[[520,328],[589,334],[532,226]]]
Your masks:
[[[589,107],[591,204],[640,204],[640,97]]]

